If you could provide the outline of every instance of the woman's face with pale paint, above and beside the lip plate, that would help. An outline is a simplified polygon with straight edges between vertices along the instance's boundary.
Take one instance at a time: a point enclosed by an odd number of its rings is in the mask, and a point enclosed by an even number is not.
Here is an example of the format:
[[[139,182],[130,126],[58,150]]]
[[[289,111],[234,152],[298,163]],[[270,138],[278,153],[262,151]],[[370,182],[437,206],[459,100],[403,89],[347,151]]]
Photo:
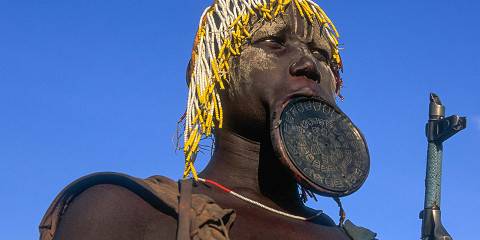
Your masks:
[[[271,111],[292,97],[317,97],[334,105],[331,46],[322,32],[293,7],[256,24],[251,41],[232,60],[229,90],[222,94],[224,127],[261,140]]]

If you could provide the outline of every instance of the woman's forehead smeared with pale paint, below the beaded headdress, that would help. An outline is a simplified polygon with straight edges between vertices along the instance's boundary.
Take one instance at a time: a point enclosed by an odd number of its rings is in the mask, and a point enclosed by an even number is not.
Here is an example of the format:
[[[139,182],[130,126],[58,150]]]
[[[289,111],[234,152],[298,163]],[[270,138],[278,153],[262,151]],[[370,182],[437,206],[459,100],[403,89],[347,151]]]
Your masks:
[[[290,5],[284,14],[277,16],[274,20],[266,22],[260,19],[255,23],[252,42],[272,35],[289,34],[302,42],[314,43],[317,47],[329,50],[331,46],[324,31],[323,25],[317,21],[310,23]]]

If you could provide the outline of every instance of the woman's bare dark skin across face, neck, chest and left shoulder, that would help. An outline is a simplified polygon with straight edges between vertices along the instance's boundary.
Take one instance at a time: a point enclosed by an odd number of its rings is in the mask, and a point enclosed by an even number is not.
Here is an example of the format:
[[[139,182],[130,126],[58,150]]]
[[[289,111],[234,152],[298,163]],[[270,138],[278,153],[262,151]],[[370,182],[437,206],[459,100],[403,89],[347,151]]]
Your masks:
[[[304,24],[292,8],[273,23],[256,26],[251,42],[232,60],[233,80],[221,92],[224,128],[215,130],[214,155],[200,176],[269,207],[310,217],[316,211],[304,206],[295,179],[275,157],[270,118],[294,96],[320,97],[335,104],[330,46],[320,27]],[[214,187],[199,184],[193,191],[235,210],[232,239],[349,239],[326,215],[305,222],[252,206]],[[55,239],[175,239],[176,224],[176,219],[133,192],[104,184],[73,200]]]

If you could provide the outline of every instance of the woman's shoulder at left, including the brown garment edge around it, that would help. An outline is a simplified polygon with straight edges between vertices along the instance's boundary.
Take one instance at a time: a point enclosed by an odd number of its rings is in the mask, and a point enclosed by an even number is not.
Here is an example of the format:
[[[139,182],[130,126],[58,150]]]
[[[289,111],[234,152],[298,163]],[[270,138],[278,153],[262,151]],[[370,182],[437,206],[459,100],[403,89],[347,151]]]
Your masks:
[[[177,195],[176,183],[161,176],[92,174],[55,199],[42,220],[41,239],[174,239]]]

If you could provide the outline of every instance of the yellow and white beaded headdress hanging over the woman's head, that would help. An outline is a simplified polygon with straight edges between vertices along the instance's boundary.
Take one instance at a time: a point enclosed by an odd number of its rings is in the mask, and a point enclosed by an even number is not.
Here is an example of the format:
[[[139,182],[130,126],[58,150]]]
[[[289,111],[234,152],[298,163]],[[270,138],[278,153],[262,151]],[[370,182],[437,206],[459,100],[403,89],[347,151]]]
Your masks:
[[[229,60],[240,55],[256,21],[272,21],[291,4],[309,23],[317,22],[322,27],[332,49],[338,94],[342,82],[339,35],[316,3],[312,0],[215,0],[202,14],[193,45],[184,115],[184,177],[191,173],[198,179],[194,162],[200,140],[211,136],[215,127],[222,128],[223,111],[218,91],[225,88],[229,79]]]

